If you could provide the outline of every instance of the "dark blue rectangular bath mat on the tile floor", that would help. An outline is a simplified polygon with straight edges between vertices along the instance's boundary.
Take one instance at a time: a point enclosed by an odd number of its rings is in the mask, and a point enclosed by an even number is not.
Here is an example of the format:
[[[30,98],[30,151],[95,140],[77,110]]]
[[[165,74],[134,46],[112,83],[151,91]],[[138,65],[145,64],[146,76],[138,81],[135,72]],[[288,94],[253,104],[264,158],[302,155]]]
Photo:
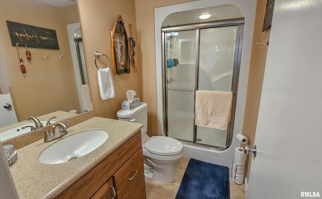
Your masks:
[[[190,159],[176,199],[229,199],[229,168]]]

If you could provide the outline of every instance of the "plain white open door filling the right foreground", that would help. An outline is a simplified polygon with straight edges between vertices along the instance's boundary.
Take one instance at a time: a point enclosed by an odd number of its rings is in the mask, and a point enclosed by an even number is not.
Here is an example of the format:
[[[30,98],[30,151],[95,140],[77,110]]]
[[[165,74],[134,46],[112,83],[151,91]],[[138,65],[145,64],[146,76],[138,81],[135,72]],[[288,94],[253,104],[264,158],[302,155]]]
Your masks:
[[[322,1],[275,0],[247,198],[322,197]]]

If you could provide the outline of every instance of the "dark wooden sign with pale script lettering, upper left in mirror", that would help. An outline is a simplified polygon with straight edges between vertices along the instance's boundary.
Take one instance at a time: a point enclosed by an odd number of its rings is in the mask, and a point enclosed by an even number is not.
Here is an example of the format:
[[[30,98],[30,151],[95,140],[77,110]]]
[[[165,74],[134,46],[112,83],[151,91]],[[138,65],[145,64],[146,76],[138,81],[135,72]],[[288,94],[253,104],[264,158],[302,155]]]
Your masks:
[[[11,44],[27,45],[28,48],[56,49],[58,41],[55,30],[7,21]]]

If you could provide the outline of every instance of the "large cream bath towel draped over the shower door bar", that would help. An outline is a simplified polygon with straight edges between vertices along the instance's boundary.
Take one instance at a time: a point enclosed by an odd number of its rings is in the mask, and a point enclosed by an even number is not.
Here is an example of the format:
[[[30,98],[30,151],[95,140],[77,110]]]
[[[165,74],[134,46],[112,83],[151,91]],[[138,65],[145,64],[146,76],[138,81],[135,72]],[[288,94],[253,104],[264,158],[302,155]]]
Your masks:
[[[232,92],[196,91],[195,124],[226,130],[231,117]]]

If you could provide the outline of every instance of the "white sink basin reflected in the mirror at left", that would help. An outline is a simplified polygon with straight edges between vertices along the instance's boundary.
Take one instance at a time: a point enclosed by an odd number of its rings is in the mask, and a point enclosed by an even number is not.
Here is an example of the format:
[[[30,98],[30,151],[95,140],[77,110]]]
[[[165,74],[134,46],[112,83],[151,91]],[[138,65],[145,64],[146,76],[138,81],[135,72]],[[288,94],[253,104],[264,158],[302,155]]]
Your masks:
[[[45,121],[40,121],[40,122],[42,123],[43,126],[46,126],[46,122],[47,122],[46,120]],[[50,120],[50,122],[54,123],[56,121]],[[17,137],[19,135],[22,135],[22,134],[25,134],[25,133],[28,133],[28,132],[31,131],[30,127],[25,128],[25,129],[21,129],[24,126],[33,126],[33,127],[35,127],[35,123],[34,122],[29,122],[29,123],[22,124],[20,126],[11,128],[11,129],[6,130],[4,132],[0,132],[0,140],[1,141],[6,141],[8,139]]]

